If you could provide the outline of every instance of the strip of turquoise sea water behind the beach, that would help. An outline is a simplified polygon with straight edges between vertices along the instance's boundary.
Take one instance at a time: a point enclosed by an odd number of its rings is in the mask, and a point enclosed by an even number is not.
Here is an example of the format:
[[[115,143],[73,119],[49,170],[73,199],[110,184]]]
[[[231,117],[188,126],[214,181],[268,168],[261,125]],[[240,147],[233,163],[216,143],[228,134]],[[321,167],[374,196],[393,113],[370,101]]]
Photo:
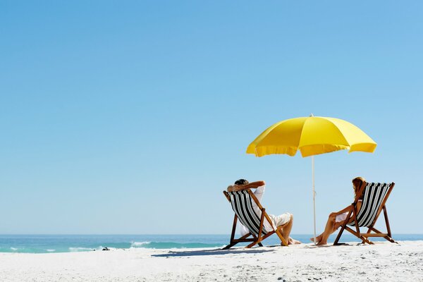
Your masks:
[[[302,243],[310,243],[312,235],[297,234],[293,238]],[[0,252],[87,252],[102,250],[103,247],[128,248],[204,248],[223,247],[229,242],[230,235],[0,235]],[[393,235],[398,241],[423,240],[423,234]],[[333,242],[335,235],[329,238]],[[384,241],[374,238],[374,241]],[[341,242],[357,242],[353,235],[345,234]],[[264,245],[278,245],[276,235],[264,240]],[[238,244],[243,245],[243,244]],[[244,244],[245,245],[245,244]]]

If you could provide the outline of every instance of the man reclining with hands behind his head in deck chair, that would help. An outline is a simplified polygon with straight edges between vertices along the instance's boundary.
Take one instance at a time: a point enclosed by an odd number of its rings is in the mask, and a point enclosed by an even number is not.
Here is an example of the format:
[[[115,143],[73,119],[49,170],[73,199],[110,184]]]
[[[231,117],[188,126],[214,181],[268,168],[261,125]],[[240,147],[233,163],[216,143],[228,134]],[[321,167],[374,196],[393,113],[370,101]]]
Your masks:
[[[264,181],[256,181],[256,182],[249,183],[245,179],[239,179],[239,180],[235,181],[234,185],[229,185],[227,190],[228,190],[228,192],[232,192],[232,191],[240,191],[240,190],[245,190],[245,189],[255,189],[255,192],[254,192],[255,197],[257,197],[257,200],[259,200],[259,202],[262,202],[262,197],[263,197],[265,185],[266,185],[266,183],[264,183]],[[252,202],[252,208],[255,210],[255,212],[257,214],[261,214],[259,207],[257,207],[257,204],[254,201]],[[281,230],[283,238],[285,238],[286,242],[288,242],[288,245],[300,244],[301,243],[300,241],[294,240],[293,238],[289,237],[290,231],[293,228],[293,215],[292,214],[290,214],[288,212],[285,213],[285,214],[281,214],[279,216],[274,216],[273,214],[269,214],[269,217],[271,219],[271,223],[273,224],[273,226],[275,228],[277,228],[278,226],[281,226],[283,224],[288,223]],[[250,232],[241,223],[240,223],[240,226],[241,226],[240,233],[241,233],[242,236],[246,235],[247,233]],[[264,228],[266,228],[266,230],[272,230],[273,229],[270,226],[268,221],[264,221]]]

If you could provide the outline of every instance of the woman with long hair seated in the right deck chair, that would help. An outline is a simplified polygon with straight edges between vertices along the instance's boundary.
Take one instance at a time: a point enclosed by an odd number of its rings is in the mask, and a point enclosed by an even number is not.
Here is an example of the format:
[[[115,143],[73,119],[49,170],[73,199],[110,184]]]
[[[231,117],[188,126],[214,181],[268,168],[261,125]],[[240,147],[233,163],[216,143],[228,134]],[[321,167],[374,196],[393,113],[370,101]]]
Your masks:
[[[366,180],[362,177],[356,177],[353,179],[353,188],[354,188],[354,194],[355,197],[357,197],[357,192],[360,190],[360,187],[363,182]],[[360,211],[362,200],[358,200],[357,202],[357,212]],[[316,237],[316,243],[317,245],[326,245],[328,242],[329,235],[331,235],[333,232],[336,231],[336,229],[339,228],[339,226],[342,226],[343,223],[345,223],[346,220],[348,220],[348,223],[353,221],[353,218],[350,217],[350,219],[347,219],[348,212],[352,209],[351,206],[345,207],[345,209],[341,209],[339,212],[333,212],[329,214],[329,219],[326,222],[326,227],[324,228],[324,232],[321,233],[319,236]],[[314,242],[314,238],[310,238]]]

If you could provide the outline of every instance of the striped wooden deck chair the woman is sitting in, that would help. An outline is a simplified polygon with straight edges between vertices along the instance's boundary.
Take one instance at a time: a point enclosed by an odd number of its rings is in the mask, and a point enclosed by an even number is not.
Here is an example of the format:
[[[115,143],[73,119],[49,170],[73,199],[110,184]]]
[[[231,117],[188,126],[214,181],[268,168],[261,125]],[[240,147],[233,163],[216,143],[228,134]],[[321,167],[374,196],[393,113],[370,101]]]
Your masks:
[[[393,189],[395,183],[366,183],[362,184],[359,192],[357,192],[357,197],[353,202],[351,211],[348,213],[347,219],[353,218],[353,221],[345,221],[341,230],[336,237],[333,245],[341,245],[338,243],[339,239],[344,230],[349,231],[353,235],[357,236],[362,243],[373,244],[369,240],[369,237],[383,237],[389,242],[396,243],[392,239],[391,228],[389,227],[388,213],[386,212],[386,200],[388,200],[389,195]],[[361,197],[362,196],[362,197]],[[362,199],[362,206],[360,211],[357,212],[357,202],[359,199]],[[384,211],[385,223],[386,223],[386,233],[374,228],[381,211]],[[351,215],[352,214],[352,215]],[[352,228],[348,227],[351,226]],[[355,227],[355,231],[353,228]],[[360,227],[368,228],[367,233],[361,233]],[[372,233],[372,231],[374,233]]]

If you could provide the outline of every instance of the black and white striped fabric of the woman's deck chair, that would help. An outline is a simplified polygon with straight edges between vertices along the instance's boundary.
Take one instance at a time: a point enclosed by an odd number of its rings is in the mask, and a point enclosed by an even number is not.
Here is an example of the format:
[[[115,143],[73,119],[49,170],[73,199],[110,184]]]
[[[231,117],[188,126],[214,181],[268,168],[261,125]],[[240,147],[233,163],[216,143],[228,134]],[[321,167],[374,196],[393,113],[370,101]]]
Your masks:
[[[362,197],[362,207],[357,214],[359,227],[372,225],[391,185],[391,183],[367,183],[366,188],[364,188],[364,197]],[[348,223],[348,225],[355,226],[355,221]]]

